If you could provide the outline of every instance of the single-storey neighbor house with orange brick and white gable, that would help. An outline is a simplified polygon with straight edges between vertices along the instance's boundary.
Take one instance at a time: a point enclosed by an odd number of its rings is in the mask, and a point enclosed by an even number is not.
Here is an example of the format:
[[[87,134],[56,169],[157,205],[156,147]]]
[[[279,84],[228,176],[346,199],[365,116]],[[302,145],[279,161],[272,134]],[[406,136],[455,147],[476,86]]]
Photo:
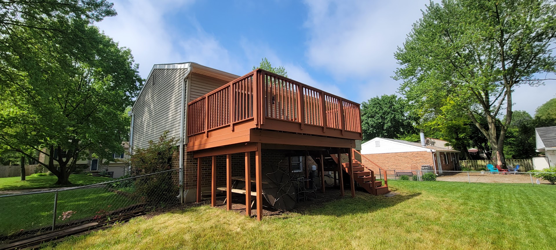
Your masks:
[[[429,145],[426,144],[429,142]],[[430,142],[434,142],[432,146]],[[446,146],[442,140],[427,138],[424,144],[404,140],[375,137],[361,145],[365,164],[369,160],[393,174],[393,170],[420,170],[429,165],[436,172],[453,171],[458,165],[459,151]],[[370,164],[368,164],[370,165]],[[371,166],[371,169],[373,166]]]

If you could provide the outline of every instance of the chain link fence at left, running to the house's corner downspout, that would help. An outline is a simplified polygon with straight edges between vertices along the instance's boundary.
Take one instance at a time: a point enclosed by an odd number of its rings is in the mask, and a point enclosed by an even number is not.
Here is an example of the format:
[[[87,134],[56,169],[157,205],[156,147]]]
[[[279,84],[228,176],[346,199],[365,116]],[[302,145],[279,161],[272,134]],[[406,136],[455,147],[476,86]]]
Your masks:
[[[93,185],[0,196],[0,245],[34,234],[113,221],[179,202],[173,170]]]

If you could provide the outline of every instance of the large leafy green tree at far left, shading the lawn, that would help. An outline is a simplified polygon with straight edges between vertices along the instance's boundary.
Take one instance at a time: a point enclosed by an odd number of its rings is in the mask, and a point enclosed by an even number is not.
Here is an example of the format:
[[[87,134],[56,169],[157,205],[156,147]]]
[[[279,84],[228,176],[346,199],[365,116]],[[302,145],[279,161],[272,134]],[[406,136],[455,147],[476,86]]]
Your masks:
[[[58,177],[56,184],[68,185],[83,152],[110,159],[123,150],[128,124],[121,114],[140,88],[138,65],[130,50],[92,25],[115,14],[111,3],[4,1],[2,7],[9,11],[0,29],[1,150],[37,161]]]

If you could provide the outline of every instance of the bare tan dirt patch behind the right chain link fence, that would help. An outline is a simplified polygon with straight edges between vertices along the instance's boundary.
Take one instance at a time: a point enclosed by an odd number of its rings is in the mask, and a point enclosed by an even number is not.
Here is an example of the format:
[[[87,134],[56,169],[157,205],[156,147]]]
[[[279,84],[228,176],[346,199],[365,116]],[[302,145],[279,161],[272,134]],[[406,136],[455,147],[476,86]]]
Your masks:
[[[531,176],[528,174],[491,174],[489,172],[469,172],[458,173],[451,176],[439,176],[436,178],[438,181],[460,181],[460,182],[483,182],[483,183],[531,183]],[[550,183],[539,179],[540,183]],[[537,183],[537,178],[533,176],[533,183]]]

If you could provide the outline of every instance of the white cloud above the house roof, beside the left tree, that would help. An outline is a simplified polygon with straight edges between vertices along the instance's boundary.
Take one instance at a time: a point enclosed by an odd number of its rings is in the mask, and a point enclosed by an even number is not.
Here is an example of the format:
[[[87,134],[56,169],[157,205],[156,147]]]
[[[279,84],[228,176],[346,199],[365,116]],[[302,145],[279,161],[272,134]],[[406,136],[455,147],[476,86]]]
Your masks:
[[[196,32],[181,34],[168,17],[189,8],[193,0],[116,0],[116,17],[96,25],[120,46],[131,49],[139,72],[146,78],[153,64],[196,62],[208,67],[233,70],[235,63],[214,36],[204,32],[192,17],[180,25],[192,25]],[[188,23],[190,22],[190,23]]]

